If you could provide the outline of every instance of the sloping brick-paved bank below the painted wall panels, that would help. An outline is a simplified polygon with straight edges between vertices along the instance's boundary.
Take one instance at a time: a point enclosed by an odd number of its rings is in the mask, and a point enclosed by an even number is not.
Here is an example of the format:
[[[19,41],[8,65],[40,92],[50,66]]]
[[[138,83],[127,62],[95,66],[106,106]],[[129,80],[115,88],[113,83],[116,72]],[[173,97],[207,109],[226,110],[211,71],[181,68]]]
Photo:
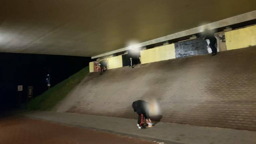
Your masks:
[[[90,73],[57,111],[136,118],[155,100],[161,121],[256,130],[256,47]]]

